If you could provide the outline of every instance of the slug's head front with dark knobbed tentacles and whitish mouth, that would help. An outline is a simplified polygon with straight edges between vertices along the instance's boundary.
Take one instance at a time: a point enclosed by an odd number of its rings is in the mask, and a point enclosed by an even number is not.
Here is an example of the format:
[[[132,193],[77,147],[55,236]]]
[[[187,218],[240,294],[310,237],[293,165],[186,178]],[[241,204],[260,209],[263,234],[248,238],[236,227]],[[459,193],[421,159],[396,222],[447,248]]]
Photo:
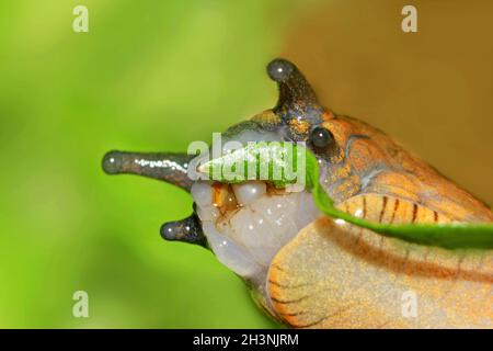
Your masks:
[[[277,104],[228,128],[222,134],[222,141],[308,141],[318,151],[329,149],[330,135],[319,133],[318,139],[310,138],[317,127],[333,116],[319,104],[303,75],[293,63],[282,58],[268,64],[267,75],[278,86]],[[231,186],[193,181],[187,177],[187,167],[194,157],[170,152],[110,151],[103,158],[103,169],[108,174],[138,174],[161,180],[191,192],[195,201],[193,214],[182,220],[165,223],[161,227],[161,236],[165,240],[209,247],[219,260],[242,276],[253,276],[265,270],[273,254],[317,215],[310,196],[305,192],[278,194],[262,182]],[[298,208],[300,204],[302,207]],[[264,215],[266,223],[273,222],[268,224],[270,229],[259,226],[259,220],[264,222],[252,213],[270,213],[273,206],[285,210],[272,216]],[[291,218],[287,220],[288,217]],[[263,240],[270,236],[263,230],[272,231],[275,220],[279,227],[274,228],[276,237],[270,238],[270,244],[263,247]],[[255,239],[248,236],[248,229],[243,230],[252,227],[250,222],[259,227]]]

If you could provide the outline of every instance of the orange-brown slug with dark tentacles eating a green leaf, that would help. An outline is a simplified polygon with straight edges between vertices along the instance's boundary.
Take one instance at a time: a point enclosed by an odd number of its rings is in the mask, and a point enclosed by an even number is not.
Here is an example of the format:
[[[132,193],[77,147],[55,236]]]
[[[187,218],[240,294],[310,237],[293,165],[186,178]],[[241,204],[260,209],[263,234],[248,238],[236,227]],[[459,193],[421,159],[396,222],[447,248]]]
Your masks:
[[[481,201],[385,133],[323,107],[286,59],[267,73],[275,107],[226,131],[226,140],[305,141],[335,206],[385,224],[492,223]],[[110,151],[108,174],[134,173],[190,192],[193,214],[161,227],[196,244],[251,288],[257,305],[291,328],[493,328],[493,251],[450,250],[390,238],[324,216],[309,191],[259,180],[192,180],[194,156]]]

